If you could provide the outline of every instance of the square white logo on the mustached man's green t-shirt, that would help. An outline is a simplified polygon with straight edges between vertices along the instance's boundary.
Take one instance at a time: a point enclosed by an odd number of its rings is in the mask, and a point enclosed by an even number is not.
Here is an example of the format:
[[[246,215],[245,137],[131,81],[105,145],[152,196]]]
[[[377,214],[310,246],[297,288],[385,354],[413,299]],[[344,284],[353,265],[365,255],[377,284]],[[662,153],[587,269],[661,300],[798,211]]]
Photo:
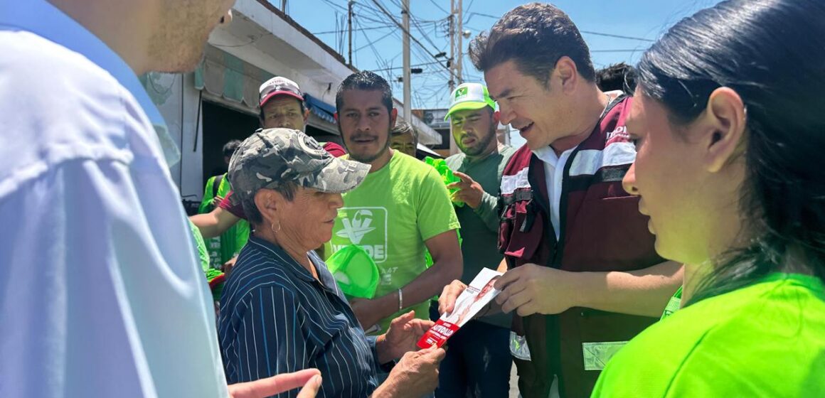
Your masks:
[[[332,252],[347,245],[358,245],[375,260],[387,260],[387,209],[386,208],[341,208],[332,238]]]

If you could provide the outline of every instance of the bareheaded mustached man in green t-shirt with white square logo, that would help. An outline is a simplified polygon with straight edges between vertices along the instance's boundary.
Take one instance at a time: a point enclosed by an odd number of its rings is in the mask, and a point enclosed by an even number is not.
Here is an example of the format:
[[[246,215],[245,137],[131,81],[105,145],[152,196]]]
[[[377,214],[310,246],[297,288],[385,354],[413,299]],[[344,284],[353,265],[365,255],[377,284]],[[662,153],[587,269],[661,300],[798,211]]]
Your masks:
[[[336,107],[349,157],[372,168],[358,188],[343,195],[326,254],[359,245],[375,260],[375,297],[352,299],[351,306],[365,330],[380,334],[403,311],[428,319],[429,299],[460,278],[459,222],[436,170],[389,147],[398,113],[382,77],[351,74],[338,87]],[[425,249],[434,261],[429,269]]]

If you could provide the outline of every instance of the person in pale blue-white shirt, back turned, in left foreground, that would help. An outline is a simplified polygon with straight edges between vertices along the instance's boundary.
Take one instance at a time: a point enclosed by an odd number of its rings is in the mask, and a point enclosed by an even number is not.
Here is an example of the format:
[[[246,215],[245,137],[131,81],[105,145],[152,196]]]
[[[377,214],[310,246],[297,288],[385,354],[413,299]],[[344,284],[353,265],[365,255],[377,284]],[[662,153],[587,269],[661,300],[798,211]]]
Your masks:
[[[0,0],[0,396],[317,391],[317,371],[227,388],[177,151],[135,76],[194,68],[231,4]]]

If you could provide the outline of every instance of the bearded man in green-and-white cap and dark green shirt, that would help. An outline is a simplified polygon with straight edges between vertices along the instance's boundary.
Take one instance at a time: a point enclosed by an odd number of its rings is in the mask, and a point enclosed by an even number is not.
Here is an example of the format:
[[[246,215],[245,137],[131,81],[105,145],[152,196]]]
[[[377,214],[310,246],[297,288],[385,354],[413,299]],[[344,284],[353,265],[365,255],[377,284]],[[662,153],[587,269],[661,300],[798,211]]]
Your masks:
[[[454,199],[467,204],[455,208],[455,213],[464,239],[461,281],[470,283],[482,268],[497,269],[502,262],[497,249],[498,196],[502,171],[515,150],[498,145],[496,103],[479,83],[464,83],[452,92],[446,119],[460,149],[446,163],[461,179],[449,185],[459,189]],[[480,317],[450,337],[436,396],[507,396],[511,321],[510,315],[502,313]]]

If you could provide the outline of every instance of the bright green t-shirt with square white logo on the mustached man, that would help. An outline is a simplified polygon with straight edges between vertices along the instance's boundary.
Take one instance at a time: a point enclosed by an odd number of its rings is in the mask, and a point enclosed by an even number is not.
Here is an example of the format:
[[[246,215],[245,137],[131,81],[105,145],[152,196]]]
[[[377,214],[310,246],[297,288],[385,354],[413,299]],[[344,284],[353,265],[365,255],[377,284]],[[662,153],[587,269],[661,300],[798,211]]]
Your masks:
[[[343,199],[325,254],[347,245],[363,247],[379,269],[375,297],[394,293],[427,269],[424,241],[459,228],[438,172],[398,151]],[[408,304],[405,307],[410,310]],[[417,318],[429,319],[429,301],[413,308]],[[398,313],[380,321],[375,333],[384,333],[395,316]]]

